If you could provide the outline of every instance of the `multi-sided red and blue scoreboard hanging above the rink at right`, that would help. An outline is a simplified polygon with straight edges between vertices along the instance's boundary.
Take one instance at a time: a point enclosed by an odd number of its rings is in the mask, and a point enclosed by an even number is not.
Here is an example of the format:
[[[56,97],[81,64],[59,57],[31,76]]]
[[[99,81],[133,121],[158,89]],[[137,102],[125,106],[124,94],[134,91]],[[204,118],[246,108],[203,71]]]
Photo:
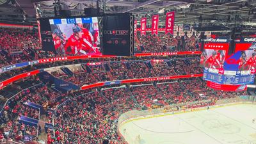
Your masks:
[[[229,44],[214,40],[204,45],[200,64],[204,67],[204,79],[216,84],[250,84],[255,77],[255,49],[237,42],[236,52],[228,55]],[[219,42],[216,42],[219,41]]]

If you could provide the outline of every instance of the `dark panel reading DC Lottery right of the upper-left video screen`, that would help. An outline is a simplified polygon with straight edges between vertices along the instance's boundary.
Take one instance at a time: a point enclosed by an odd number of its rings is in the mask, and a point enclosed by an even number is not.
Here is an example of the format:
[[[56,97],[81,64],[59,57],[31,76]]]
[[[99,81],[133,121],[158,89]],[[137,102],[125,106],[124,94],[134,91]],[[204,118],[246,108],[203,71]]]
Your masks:
[[[134,19],[130,13],[106,15],[102,20],[103,54],[132,56],[134,49]]]

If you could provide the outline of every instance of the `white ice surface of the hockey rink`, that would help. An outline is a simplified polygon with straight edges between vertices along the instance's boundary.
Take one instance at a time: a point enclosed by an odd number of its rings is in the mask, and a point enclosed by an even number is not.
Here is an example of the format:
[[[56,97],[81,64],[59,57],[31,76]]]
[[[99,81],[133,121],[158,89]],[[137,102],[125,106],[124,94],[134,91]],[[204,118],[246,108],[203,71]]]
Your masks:
[[[129,144],[256,144],[253,118],[256,105],[237,104],[140,118],[121,125],[120,132]]]

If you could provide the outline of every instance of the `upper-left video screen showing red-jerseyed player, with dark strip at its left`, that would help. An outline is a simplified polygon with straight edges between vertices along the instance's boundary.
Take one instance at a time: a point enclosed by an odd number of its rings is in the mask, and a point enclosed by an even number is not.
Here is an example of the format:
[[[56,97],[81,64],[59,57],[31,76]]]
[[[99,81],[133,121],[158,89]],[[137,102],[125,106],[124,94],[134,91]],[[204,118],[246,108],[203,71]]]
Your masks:
[[[101,55],[98,17],[41,19],[44,51],[60,55]]]

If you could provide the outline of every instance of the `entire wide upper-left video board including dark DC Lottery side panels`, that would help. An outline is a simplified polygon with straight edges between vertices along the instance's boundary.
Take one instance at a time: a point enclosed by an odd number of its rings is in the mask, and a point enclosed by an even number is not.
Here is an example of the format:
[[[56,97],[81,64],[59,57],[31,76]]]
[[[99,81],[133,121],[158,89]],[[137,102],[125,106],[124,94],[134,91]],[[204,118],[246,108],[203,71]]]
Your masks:
[[[42,18],[39,23],[44,51],[60,56],[133,55],[134,17],[131,13]]]

